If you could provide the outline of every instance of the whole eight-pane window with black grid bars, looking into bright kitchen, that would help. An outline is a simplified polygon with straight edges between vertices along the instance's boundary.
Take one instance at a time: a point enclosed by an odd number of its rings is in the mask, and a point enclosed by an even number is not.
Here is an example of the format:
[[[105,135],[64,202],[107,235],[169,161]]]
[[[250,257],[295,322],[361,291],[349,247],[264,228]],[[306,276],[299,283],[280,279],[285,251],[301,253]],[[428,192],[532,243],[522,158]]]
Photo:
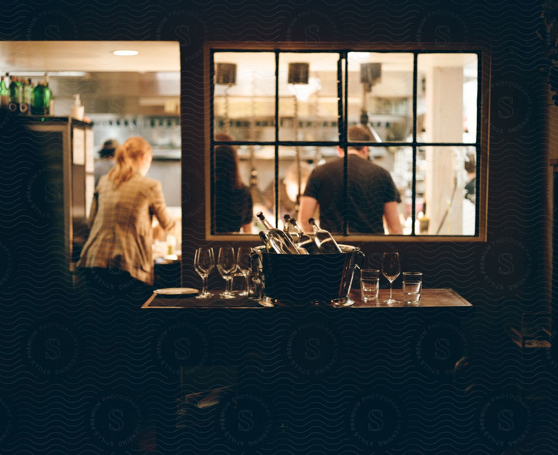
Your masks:
[[[211,50],[211,234],[478,236],[480,57]]]

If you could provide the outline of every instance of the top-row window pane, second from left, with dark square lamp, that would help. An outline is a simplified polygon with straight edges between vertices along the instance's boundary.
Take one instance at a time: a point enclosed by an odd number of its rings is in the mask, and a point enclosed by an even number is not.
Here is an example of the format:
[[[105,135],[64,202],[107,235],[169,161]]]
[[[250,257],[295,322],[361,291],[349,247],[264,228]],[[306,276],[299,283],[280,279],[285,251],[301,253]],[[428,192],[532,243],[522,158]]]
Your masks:
[[[338,60],[335,52],[279,55],[280,141],[339,140]]]

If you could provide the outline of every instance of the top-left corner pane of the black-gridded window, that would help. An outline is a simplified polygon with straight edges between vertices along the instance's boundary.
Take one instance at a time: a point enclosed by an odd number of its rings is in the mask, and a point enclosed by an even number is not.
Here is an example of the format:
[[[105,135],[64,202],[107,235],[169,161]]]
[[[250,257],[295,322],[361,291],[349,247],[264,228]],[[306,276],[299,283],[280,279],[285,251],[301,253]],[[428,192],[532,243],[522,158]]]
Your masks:
[[[275,54],[215,52],[214,132],[275,141]]]

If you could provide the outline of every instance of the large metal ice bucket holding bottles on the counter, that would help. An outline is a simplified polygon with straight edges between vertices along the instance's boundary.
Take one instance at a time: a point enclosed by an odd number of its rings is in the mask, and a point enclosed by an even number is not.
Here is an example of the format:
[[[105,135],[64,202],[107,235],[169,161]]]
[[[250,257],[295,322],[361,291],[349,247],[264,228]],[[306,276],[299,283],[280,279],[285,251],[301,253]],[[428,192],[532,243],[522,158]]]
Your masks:
[[[364,253],[356,246],[339,247],[343,253],[276,254],[254,248],[266,297],[275,304],[350,304],[354,269],[362,266]]]

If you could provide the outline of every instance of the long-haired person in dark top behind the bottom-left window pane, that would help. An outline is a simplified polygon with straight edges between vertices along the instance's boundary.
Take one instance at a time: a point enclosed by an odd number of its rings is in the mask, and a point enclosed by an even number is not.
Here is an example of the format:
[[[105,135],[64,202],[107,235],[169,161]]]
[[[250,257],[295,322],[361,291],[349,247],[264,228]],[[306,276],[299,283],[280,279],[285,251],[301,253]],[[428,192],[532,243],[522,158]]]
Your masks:
[[[233,141],[225,133],[215,134],[215,141]],[[252,196],[240,178],[237,148],[215,146],[214,228],[218,233],[252,232]]]

